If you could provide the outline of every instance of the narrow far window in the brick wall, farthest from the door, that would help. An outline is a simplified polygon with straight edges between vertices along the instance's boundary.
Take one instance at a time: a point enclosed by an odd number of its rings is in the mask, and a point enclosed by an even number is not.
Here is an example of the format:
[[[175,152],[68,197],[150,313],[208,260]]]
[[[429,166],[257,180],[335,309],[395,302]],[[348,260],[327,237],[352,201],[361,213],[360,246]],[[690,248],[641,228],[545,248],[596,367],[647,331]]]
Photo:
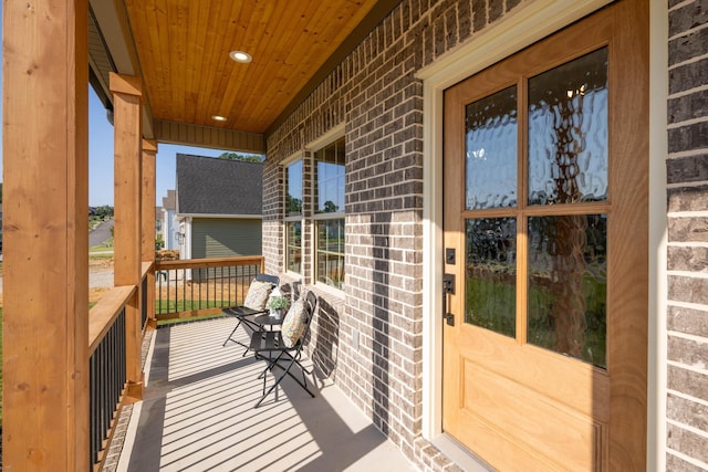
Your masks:
[[[285,270],[302,268],[302,160],[285,169]]]

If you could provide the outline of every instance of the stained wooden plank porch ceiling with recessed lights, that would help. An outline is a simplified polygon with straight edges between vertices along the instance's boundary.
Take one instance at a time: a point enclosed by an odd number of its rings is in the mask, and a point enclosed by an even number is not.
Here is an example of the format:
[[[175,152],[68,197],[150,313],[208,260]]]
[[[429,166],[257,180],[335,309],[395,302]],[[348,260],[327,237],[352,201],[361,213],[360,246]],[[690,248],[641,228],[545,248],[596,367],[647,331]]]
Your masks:
[[[269,128],[375,4],[125,0],[153,117],[250,133]]]

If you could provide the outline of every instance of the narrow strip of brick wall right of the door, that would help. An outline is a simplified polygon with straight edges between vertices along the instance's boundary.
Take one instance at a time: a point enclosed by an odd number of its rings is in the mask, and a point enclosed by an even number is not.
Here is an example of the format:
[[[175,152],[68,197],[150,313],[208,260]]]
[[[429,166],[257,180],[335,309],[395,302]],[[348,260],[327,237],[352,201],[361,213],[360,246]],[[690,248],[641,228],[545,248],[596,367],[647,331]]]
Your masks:
[[[708,1],[670,0],[668,470],[708,464]]]

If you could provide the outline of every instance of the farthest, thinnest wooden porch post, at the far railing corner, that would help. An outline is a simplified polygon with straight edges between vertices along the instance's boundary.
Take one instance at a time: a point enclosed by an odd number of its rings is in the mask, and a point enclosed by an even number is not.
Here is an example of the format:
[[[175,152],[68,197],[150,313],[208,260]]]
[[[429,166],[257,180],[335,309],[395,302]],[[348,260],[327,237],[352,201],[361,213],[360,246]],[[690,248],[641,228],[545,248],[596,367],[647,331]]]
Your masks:
[[[155,263],[155,156],[157,141],[143,140],[143,262]],[[155,268],[147,274],[148,326],[156,327],[155,319]]]

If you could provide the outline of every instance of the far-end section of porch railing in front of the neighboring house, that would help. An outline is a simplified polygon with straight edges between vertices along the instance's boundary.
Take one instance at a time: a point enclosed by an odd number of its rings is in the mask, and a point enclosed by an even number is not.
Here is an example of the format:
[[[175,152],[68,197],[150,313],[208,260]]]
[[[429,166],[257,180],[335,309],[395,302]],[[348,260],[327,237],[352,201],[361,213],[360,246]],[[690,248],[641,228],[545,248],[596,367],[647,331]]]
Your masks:
[[[157,321],[208,316],[240,304],[262,256],[192,259],[155,263]]]

